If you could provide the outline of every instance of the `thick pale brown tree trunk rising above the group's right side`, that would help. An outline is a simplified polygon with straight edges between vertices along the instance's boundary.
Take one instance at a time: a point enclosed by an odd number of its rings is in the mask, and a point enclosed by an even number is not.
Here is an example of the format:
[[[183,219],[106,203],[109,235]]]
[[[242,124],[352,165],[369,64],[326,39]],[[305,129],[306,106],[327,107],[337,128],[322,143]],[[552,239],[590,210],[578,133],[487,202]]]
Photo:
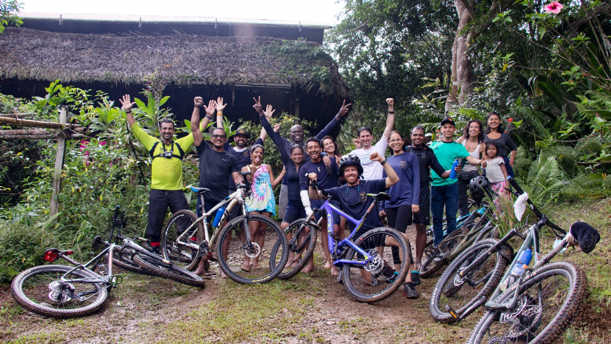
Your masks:
[[[455,0],[458,13],[458,28],[452,44],[452,78],[450,94],[445,102],[445,111],[453,105],[463,105],[471,92],[473,82],[473,65],[469,60],[469,44],[473,39],[473,31],[464,32],[467,25],[473,20],[472,13],[464,1]]]

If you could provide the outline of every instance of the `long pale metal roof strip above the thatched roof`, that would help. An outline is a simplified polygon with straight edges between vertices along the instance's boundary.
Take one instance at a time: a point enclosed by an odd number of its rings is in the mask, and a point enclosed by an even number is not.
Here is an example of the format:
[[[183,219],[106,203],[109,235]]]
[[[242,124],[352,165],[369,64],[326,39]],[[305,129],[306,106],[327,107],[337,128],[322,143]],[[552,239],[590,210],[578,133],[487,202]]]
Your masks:
[[[104,21],[109,23],[167,23],[167,24],[221,24],[221,25],[247,25],[247,26],[277,26],[298,28],[328,29],[329,23],[319,21],[296,21],[296,20],[269,20],[269,19],[245,19],[245,18],[214,18],[214,17],[178,17],[163,15],[119,15],[119,14],[95,14],[95,13],[42,13],[42,12],[20,12],[21,18],[31,20],[58,20],[66,21]]]

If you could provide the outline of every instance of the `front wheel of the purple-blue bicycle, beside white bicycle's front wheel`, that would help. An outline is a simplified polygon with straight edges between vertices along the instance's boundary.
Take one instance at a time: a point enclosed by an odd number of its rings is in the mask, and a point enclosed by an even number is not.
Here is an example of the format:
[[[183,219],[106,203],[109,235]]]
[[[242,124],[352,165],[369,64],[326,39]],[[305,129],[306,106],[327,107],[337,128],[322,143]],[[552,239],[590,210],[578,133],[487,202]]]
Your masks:
[[[292,238],[290,240],[287,239],[288,254],[290,255],[289,260],[291,259],[291,255],[296,260],[292,264],[287,263],[284,266],[282,272],[277,275],[279,279],[291,279],[307,265],[307,263],[310,261],[310,257],[314,255],[316,236],[318,234],[317,230],[318,228],[316,228],[315,225],[312,225],[312,223],[306,224],[305,219],[293,221],[290,225],[288,225],[287,229],[284,230],[284,233],[287,234],[287,236],[288,233],[291,233]],[[274,244],[271,251],[271,257],[273,258],[269,261],[273,265],[275,265],[276,260],[278,260],[276,256],[279,253],[280,245],[282,245],[282,241],[280,241],[280,239],[276,240],[276,244]]]

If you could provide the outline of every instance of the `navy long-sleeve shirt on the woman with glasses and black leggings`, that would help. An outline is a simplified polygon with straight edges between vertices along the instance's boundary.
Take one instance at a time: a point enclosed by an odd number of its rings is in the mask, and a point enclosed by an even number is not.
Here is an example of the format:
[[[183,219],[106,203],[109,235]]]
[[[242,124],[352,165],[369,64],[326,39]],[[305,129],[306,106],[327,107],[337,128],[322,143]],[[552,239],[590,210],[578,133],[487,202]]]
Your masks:
[[[420,164],[417,155],[403,152],[388,157],[386,162],[395,170],[399,181],[390,187],[390,200],[383,201],[380,209],[420,204]],[[386,171],[382,176],[387,177]]]

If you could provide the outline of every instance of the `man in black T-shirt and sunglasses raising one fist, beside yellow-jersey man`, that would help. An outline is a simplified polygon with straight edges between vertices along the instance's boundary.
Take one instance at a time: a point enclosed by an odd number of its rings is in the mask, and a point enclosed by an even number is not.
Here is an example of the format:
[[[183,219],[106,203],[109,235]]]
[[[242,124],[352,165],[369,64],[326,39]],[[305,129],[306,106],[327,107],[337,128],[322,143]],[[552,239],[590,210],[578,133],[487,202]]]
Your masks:
[[[204,211],[210,211],[229,195],[227,184],[229,184],[230,176],[235,184],[242,182],[242,176],[238,173],[240,171],[238,170],[238,160],[225,152],[223,148],[227,141],[227,134],[224,129],[214,129],[210,140],[212,146],[203,141],[202,132],[199,129],[199,107],[203,105],[203,100],[201,97],[196,97],[194,103],[191,131],[193,132],[193,144],[196,146],[197,155],[199,155],[199,187],[210,189],[210,192],[205,193],[203,201]],[[197,208],[197,215],[201,216],[199,207]],[[204,272],[203,263],[204,261],[200,262],[194,273]]]

